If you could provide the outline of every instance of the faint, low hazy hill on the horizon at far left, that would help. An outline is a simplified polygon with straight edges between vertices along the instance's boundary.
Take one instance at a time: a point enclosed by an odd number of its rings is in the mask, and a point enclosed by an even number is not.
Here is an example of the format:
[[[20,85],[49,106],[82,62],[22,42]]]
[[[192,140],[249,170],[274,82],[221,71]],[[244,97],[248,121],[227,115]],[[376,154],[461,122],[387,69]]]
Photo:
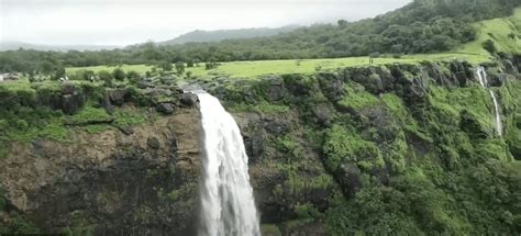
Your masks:
[[[56,50],[56,52],[67,52],[67,50],[101,50],[101,49],[115,49],[120,46],[113,45],[46,45],[46,44],[30,44],[25,42],[0,42],[0,52],[2,50],[15,50],[19,48],[24,49],[36,49],[36,50]]]

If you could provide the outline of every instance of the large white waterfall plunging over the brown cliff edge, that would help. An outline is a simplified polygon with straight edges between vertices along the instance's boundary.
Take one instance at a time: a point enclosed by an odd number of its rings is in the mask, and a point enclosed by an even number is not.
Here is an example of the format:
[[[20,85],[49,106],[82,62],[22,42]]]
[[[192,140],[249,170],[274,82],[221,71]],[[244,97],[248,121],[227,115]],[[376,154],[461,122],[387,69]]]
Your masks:
[[[239,126],[217,98],[198,98],[204,142],[199,235],[260,235]]]

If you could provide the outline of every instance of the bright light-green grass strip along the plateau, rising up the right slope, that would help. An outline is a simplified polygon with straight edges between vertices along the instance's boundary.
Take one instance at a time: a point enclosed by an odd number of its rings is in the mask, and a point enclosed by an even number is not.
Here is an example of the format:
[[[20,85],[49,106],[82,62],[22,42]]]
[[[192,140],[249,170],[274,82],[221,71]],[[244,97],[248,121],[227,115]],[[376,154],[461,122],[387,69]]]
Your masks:
[[[492,40],[500,52],[509,52],[521,54],[521,33],[517,29],[521,29],[521,8],[516,9],[516,12],[510,18],[494,19],[483,21],[475,25],[479,32],[476,41],[462,45],[453,52],[440,54],[419,54],[406,55],[401,58],[384,57],[376,58],[376,65],[384,64],[415,64],[422,60],[454,60],[462,59],[472,64],[479,64],[490,60],[490,54],[483,48],[483,42]],[[509,37],[510,34],[516,34],[516,38]],[[232,61],[222,63],[215,69],[206,70],[202,65],[199,67],[187,68],[186,71],[191,71],[193,76],[206,77],[212,75],[225,75],[230,77],[258,77],[263,75],[280,75],[280,74],[313,74],[317,69],[331,70],[343,67],[361,67],[369,66],[368,57],[348,57],[334,59],[303,59],[303,60],[256,60],[256,61]],[[67,72],[71,74],[77,70],[87,69],[93,71],[109,70],[112,71],[115,67],[95,66],[95,67],[75,67],[67,68]],[[140,74],[145,74],[152,69],[152,66],[146,65],[122,65],[121,68],[125,71],[134,70]]]

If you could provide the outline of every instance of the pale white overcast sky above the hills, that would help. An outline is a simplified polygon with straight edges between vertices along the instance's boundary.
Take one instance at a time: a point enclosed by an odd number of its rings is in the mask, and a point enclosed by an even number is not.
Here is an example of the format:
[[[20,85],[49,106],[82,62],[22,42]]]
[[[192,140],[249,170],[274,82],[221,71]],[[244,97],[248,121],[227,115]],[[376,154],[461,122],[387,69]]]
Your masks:
[[[0,41],[128,45],[193,30],[350,21],[411,0],[0,0]]]

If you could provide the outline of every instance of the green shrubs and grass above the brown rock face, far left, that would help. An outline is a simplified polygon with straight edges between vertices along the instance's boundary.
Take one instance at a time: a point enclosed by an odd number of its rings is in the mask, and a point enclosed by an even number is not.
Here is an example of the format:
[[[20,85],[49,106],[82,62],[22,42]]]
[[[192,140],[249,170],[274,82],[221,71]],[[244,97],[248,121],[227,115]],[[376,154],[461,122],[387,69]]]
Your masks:
[[[113,114],[100,106],[104,87],[97,82],[71,81],[75,90],[88,93],[88,100],[71,100],[68,109],[78,110],[64,114],[59,106],[62,89],[58,82],[0,83],[0,158],[7,157],[12,142],[27,143],[36,139],[70,142],[70,133],[86,131],[100,133],[111,125],[133,126],[147,121],[138,108],[115,108]]]

